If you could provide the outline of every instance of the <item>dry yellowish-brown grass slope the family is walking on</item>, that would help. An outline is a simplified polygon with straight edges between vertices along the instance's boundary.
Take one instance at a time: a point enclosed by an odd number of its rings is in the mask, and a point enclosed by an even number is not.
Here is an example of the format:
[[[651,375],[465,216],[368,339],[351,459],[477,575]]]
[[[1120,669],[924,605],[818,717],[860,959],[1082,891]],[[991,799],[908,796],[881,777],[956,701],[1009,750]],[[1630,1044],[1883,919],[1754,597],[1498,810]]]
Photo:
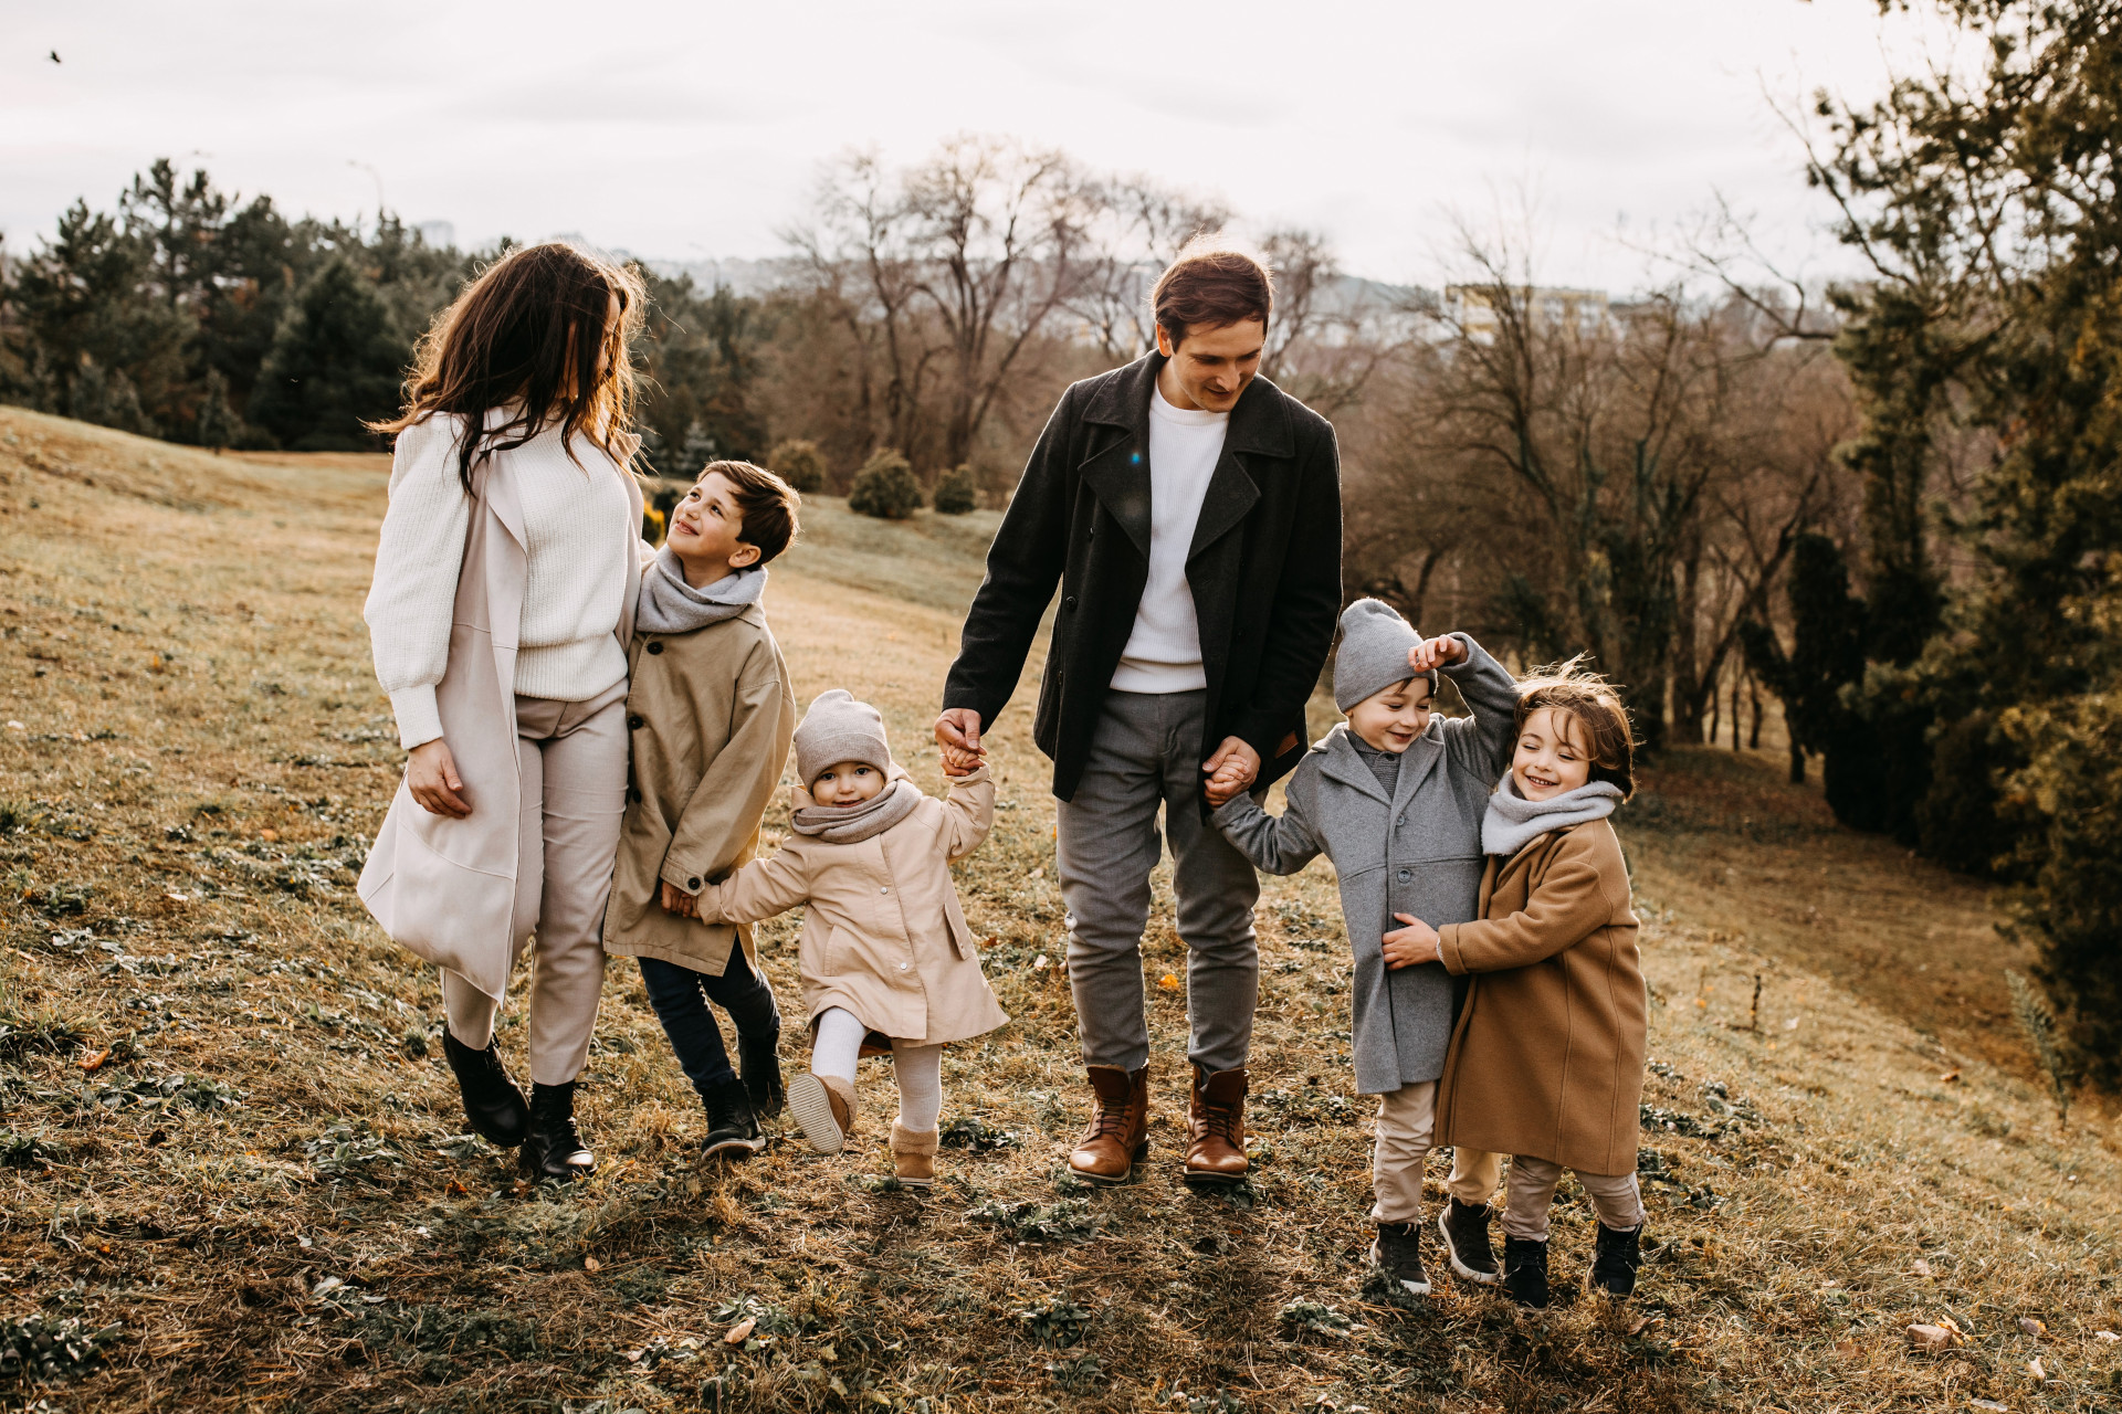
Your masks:
[[[1621,1308],[1367,1283],[1322,867],[1260,907],[1252,1183],[1173,1177],[1167,924],[1154,1162],[1065,1177],[1084,1090],[1025,710],[961,869],[1014,1022],[946,1060],[932,1196],[874,1177],[885,1062],[847,1153],[700,1168],[628,965],[579,1104],[598,1174],[520,1185],[460,1134],[433,975],[352,895],[399,767],[361,625],[382,505],[382,458],[0,409],[0,1406],[2122,1410],[2118,1130],[2086,1100],[2058,1126],[1990,901],[1732,753],[1668,755],[1621,816],[1655,998],[1653,1255]],[[879,702],[936,789],[925,723],[993,517],[811,526],[768,596],[798,695]],[[789,939],[764,941],[785,1005]],[[501,1041],[520,1064],[520,1022]],[[1566,1283],[1592,1217],[1564,1194]],[[1954,1344],[1910,1348],[1946,1319]]]

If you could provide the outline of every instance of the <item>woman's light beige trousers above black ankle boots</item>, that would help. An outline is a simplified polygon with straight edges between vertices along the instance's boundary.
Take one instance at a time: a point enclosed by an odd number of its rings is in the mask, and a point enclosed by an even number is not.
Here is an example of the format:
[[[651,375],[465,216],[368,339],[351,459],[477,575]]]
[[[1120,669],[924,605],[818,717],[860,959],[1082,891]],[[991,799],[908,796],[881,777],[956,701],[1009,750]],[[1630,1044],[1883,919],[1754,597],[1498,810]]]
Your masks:
[[[605,988],[605,901],[626,816],[626,683],[588,702],[516,697],[522,772],[516,916],[509,937],[537,933],[530,973],[530,1079],[564,1085],[590,1060]],[[494,1039],[499,1005],[441,973],[450,1035],[473,1049]]]

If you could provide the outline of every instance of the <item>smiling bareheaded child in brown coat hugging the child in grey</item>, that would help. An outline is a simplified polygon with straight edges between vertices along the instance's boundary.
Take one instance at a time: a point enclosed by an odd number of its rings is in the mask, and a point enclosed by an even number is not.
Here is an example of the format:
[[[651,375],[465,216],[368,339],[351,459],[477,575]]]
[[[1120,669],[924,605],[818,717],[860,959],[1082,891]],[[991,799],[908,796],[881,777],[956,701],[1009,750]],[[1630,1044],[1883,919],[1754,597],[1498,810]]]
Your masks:
[[[1502,1285],[1521,1306],[1547,1306],[1547,1208],[1564,1168],[1598,1215],[1585,1287],[1636,1289],[1647,992],[1606,818],[1634,791],[1632,757],[1606,683],[1575,664],[1524,683],[1511,774],[1481,823],[1481,918],[1396,935],[1415,960],[1473,977],[1437,1083],[1437,1143],[1513,1155]]]

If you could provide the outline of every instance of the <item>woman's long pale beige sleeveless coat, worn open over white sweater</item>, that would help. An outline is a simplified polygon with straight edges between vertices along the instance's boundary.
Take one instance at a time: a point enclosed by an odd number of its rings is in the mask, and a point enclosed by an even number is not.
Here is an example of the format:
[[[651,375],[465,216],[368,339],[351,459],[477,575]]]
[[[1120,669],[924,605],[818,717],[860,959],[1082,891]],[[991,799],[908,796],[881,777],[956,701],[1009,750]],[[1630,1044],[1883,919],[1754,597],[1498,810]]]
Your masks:
[[[598,458],[590,466],[609,462]],[[626,481],[632,509],[626,522],[626,602],[613,630],[624,649],[632,642],[641,551],[647,547],[641,545],[641,485],[618,466],[611,475]],[[456,774],[465,780],[471,814],[463,820],[429,814],[401,778],[356,892],[395,941],[501,1001],[516,956],[530,937],[528,929],[509,937],[524,846],[518,839],[516,636],[528,558],[509,454],[482,458],[471,485],[475,500],[450,615],[450,666],[435,687],[441,740],[450,744]],[[530,914],[535,922],[535,909]]]

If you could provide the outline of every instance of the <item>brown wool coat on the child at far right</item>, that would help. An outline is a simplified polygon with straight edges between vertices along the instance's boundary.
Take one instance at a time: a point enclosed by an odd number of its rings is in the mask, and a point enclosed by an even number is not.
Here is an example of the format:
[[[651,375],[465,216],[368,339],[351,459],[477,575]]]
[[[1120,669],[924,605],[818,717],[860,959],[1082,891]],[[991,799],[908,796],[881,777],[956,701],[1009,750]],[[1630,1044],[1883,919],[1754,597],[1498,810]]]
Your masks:
[[[1471,975],[1437,1083],[1437,1145],[1636,1172],[1647,992],[1611,820],[1555,829],[1481,878],[1481,918],[1437,931]]]

